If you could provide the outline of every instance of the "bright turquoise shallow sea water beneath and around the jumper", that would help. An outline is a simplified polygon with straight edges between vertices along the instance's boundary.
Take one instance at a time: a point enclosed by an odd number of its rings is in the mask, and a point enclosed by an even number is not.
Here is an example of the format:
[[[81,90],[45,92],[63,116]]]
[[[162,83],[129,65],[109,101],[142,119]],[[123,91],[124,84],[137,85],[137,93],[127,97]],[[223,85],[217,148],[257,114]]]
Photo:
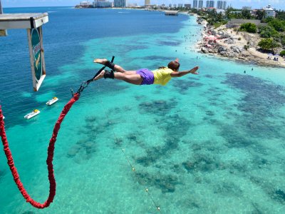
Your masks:
[[[70,98],[69,87],[76,89],[100,68],[93,57],[114,55],[127,69],[157,68],[178,57],[181,70],[199,65],[199,75],[172,79],[165,87],[105,79],[92,83],[58,135],[53,203],[45,210],[27,204],[0,153],[0,213],[157,213],[155,205],[162,213],[284,213],[284,68],[193,53],[199,36],[185,40],[185,35],[201,27],[191,16],[167,17],[170,23],[160,29],[165,21],[160,13],[105,11],[126,19],[138,13],[146,29],[83,36],[77,54],[63,53],[71,58],[67,63],[51,51],[54,69],[38,93],[29,90],[28,82],[22,86],[26,90],[13,88],[16,98],[24,100],[13,112],[6,107],[16,99],[9,88],[1,98],[14,161],[33,198],[46,200],[48,141]],[[157,24],[155,32],[147,32],[143,21],[150,18]],[[172,21],[177,26],[167,33]],[[2,72],[1,78],[6,78]],[[44,103],[52,96],[60,100],[48,108]],[[31,103],[41,114],[24,121]]]

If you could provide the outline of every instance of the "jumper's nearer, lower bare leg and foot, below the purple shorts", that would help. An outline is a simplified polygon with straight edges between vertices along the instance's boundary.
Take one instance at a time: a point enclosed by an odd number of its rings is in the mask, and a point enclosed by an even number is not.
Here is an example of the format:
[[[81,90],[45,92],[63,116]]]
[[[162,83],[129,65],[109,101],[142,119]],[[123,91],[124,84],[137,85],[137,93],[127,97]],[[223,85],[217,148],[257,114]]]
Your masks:
[[[98,76],[96,76],[94,78],[95,81],[97,81],[100,78],[103,78],[105,75],[105,70],[101,71],[101,73],[99,73]],[[113,77],[110,77],[110,73],[108,73],[108,76],[106,76],[105,78],[116,78],[119,80],[123,80],[127,83],[131,83],[134,85],[140,85],[142,83],[142,77],[140,76],[140,74],[137,73],[133,73],[133,74],[125,74],[125,73],[113,73]]]

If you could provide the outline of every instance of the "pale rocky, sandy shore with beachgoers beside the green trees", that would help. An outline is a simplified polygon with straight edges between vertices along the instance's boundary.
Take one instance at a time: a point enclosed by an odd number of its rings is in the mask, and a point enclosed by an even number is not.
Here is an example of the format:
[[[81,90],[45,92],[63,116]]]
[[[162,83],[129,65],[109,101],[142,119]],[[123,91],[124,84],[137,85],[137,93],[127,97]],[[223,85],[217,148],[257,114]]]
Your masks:
[[[199,22],[199,16],[197,16]],[[274,56],[257,51],[260,40],[257,34],[237,32],[227,29],[227,26],[207,26],[207,21],[201,21],[204,25],[201,40],[197,41],[195,49],[201,54],[209,54],[218,58],[237,61],[240,63],[252,63],[258,66],[270,66],[285,68],[285,59],[279,56],[279,61],[274,61]],[[247,46],[247,49],[245,49]]]

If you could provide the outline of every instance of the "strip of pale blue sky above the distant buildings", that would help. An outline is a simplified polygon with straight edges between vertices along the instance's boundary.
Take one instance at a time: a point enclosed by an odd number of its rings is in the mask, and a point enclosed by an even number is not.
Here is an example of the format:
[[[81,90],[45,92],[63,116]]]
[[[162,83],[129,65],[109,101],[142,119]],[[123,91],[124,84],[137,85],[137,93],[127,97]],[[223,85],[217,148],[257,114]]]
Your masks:
[[[22,6],[74,6],[82,0],[1,0],[3,7],[22,7]],[[93,1],[93,0],[89,0]],[[143,5],[144,0],[128,0],[130,3]],[[206,0],[204,0],[206,1]],[[217,0],[215,0],[217,1]],[[285,0],[227,0],[228,5],[232,4],[234,8],[242,6],[252,6],[253,9],[259,9],[262,6],[271,4],[276,9],[285,10]],[[150,0],[151,4],[192,4],[192,0]],[[204,3],[205,4],[205,3]]]

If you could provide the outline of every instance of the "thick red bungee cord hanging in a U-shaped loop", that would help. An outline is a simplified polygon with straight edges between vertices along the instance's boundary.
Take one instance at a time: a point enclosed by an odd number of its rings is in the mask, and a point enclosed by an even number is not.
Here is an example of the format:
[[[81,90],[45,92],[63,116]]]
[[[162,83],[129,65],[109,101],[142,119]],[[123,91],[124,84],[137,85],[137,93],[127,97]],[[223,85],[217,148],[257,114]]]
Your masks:
[[[46,200],[46,202],[42,204],[33,200],[31,196],[28,195],[27,191],[25,190],[23,183],[21,183],[19,174],[14,165],[11,151],[9,149],[9,144],[6,138],[6,133],[5,133],[5,128],[4,128],[3,114],[2,114],[2,110],[0,106],[0,136],[2,138],[2,143],[4,146],[4,152],[5,152],[6,158],[8,160],[8,165],[14,177],[14,181],[16,185],[18,186],[21,194],[26,199],[26,202],[31,203],[31,205],[33,205],[35,208],[39,208],[39,209],[47,208],[48,205],[50,205],[53,202],[53,198],[56,195],[56,179],[54,178],[54,175],[53,175],[54,144],[56,143],[56,137],[58,136],[58,131],[61,128],[61,122],[63,121],[68,111],[71,109],[71,106],[73,105],[73,103],[78,101],[79,96],[80,96],[80,93],[74,93],[73,98],[71,98],[71,100],[66,104],[66,106],[64,106],[63,111],[61,111],[61,115],[58,117],[58,121],[56,122],[56,125],[53,128],[53,136],[51,136],[51,140],[49,141],[49,146],[48,146],[48,158],[46,158],[46,164],[48,165],[48,180],[50,183],[49,195],[48,195],[48,199]]]

